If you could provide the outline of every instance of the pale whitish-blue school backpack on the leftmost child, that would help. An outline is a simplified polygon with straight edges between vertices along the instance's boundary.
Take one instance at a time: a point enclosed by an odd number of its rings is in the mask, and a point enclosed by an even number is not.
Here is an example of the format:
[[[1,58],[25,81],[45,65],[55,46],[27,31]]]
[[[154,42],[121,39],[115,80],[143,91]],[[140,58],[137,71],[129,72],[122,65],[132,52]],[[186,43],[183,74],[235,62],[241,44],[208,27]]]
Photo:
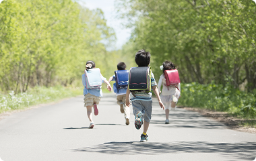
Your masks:
[[[100,68],[84,70],[84,74],[86,76],[86,89],[100,89],[102,85]]]

